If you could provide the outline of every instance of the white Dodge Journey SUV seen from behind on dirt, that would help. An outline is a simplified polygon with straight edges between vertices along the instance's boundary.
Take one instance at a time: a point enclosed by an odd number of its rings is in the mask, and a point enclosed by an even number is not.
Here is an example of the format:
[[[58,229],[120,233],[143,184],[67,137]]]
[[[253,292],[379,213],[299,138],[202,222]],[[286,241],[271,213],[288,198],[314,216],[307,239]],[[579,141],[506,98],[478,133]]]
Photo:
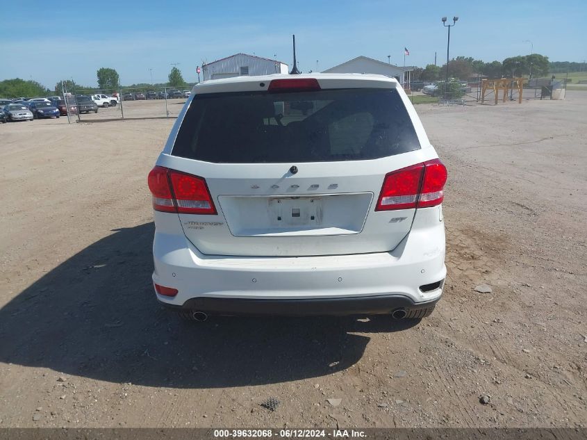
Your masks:
[[[427,316],[446,178],[395,79],[199,83],[149,173],[157,299],[195,320]]]

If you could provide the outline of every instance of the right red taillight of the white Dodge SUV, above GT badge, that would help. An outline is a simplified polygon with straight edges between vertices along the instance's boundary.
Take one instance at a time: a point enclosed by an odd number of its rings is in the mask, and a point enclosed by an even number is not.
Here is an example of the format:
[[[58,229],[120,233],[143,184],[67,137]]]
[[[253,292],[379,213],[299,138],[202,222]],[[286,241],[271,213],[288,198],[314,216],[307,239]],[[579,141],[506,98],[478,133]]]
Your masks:
[[[383,180],[375,211],[439,205],[446,181],[447,169],[438,159],[390,172]]]

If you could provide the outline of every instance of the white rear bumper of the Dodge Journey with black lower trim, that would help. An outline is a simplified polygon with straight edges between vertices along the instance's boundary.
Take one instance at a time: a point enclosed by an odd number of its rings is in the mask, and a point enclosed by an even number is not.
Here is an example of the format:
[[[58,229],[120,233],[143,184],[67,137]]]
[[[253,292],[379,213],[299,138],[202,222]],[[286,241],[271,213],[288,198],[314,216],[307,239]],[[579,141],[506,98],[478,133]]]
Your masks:
[[[185,238],[176,214],[156,213],[153,282],[178,291],[156,296],[172,307],[228,315],[431,307],[446,277],[445,231],[440,208],[421,211],[391,252],[291,257],[202,254]]]

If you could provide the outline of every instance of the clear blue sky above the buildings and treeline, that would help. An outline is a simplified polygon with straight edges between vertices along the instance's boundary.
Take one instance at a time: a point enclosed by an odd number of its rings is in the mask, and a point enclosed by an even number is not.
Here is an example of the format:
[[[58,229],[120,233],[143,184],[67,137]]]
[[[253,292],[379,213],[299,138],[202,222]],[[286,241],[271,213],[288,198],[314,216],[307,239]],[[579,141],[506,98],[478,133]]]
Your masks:
[[[300,70],[324,70],[359,55],[424,67],[451,58],[485,61],[534,52],[553,61],[587,59],[587,0],[513,1],[80,1],[5,2],[0,13],[0,80],[60,79],[95,85],[99,67],[124,84],[167,81],[179,63],[186,81],[196,66],[244,52],[291,66],[296,34]],[[452,22],[452,21],[451,21]],[[149,69],[152,69],[150,71]]]

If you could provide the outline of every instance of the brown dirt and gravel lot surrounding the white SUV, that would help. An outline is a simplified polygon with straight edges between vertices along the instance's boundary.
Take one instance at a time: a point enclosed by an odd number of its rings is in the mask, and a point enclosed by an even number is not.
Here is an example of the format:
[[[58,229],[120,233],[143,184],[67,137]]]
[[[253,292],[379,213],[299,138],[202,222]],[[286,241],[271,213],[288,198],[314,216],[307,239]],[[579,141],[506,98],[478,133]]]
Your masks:
[[[0,427],[585,424],[587,93],[417,111],[449,277],[411,324],[176,320],[146,186],[174,120],[1,126]]]

